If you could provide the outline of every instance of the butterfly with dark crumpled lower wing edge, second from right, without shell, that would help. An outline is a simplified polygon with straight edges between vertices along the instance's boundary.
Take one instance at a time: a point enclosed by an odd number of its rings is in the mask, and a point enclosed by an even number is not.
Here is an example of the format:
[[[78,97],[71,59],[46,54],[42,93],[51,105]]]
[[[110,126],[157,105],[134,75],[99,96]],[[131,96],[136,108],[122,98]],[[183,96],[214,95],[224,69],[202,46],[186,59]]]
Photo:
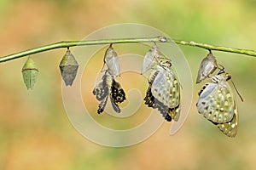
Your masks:
[[[177,121],[180,115],[180,84],[171,66],[167,60],[151,72],[144,98],[145,104],[158,109],[168,122]]]

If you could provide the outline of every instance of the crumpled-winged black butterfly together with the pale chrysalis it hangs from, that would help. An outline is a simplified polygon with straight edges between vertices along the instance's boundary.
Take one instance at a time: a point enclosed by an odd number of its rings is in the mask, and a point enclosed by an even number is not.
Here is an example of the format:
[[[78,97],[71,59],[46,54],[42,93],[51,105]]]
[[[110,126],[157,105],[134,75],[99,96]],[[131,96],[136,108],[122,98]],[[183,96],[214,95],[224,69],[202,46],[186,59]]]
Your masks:
[[[125,91],[120,83],[115,80],[115,77],[120,74],[120,66],[118,55],[113,50],[112,44],[110,44],[104,55],[105,64],[108,66],[108,69],[104,71],[101,81],[96,83],[96,87],[93,90],[93,94],[100,102],[97,113],[100,114],[105,110],[108,97],[110,98],[113,110],[120,113],[119,104],[125,100]]]

